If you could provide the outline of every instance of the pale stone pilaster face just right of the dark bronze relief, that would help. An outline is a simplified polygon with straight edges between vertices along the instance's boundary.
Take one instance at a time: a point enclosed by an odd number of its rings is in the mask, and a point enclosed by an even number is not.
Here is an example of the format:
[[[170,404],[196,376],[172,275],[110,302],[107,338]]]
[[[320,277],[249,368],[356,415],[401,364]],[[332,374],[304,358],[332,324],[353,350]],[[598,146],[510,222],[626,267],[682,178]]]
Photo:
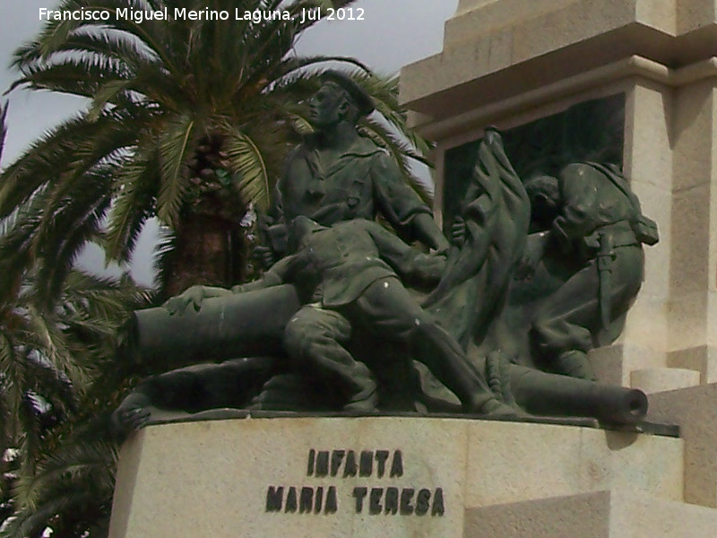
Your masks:
[[[654,67],[640,61],[636,65]],[[667,366],[672,106],[672,89],[645,77],[635,79],[626,92],[623,165],[644,213],[658,224],[660,243],[644,248],[643,287],[628,312],[622,336],[612,346],[592,351],[593,365],[608,383],[631,386],[632,372]],[[669,384],[672,379],[666,381]]]

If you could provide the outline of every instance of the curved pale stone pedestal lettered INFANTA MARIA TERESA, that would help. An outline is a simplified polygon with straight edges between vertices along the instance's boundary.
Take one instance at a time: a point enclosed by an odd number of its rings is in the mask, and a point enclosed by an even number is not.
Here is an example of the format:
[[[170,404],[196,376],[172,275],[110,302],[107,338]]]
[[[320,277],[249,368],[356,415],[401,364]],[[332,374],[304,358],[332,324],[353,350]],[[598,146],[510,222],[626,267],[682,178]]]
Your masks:
[[[678,438],[502,421],[164,424],[122,449],[110,537],[636,536],[603,532],[629,514],[717,528],[717,510],[682,502],[683,452]]]

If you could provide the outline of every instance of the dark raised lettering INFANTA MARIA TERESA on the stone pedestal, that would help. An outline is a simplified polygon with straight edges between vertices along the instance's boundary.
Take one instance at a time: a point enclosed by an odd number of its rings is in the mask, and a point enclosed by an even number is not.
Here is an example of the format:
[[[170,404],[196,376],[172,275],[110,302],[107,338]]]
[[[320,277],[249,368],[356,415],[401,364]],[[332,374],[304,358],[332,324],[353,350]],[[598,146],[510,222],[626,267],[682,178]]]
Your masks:
[[[342,506],[371,516],[444,516],[440,487],[399,487],[388,483],[403,476],[401,450],[315,450],[307,455],[307,477],[319,479],[383,479],[384,484],[355,486],[340,501],[334,484],[274,486],[266,490],[266,511],[283,514],[337,513]]]

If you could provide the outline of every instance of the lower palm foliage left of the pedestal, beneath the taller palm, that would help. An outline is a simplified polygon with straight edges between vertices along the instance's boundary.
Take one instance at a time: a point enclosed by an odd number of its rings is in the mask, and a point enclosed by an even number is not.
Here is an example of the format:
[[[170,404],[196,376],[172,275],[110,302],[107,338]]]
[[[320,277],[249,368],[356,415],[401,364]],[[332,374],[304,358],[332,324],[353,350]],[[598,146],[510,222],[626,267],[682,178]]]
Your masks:
[[[35,276],[0,301],[0,453],[9,472],[0,536],[48,527],[54,536],[106,534],[117,456],[109,413],[137,375],[117,357],[117,334],[149,295],[127,276],[73,271],[43,308]]]

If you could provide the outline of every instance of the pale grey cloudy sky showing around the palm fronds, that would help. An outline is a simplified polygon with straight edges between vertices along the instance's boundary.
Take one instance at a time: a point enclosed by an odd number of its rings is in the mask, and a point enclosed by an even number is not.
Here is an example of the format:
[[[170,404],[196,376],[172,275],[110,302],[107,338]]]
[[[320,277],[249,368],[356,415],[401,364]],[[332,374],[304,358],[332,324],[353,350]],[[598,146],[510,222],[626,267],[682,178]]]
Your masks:
[[[0,89],[17,78],[9,69],[13,50],[31,39],[41,28],[39,9],[53,9],[59,0],[0,0]],[[402,65],[431,56],[443,48],[444,23],[458,0],[358,0],[354,14],[363,10],[362,21],[323,21],[299,39],[299,54],[354,56],[383,74],[398,72]],[[85,105],[84,100],[48,92],[13,91],[9,101],[5,166],[45,130],[70,117]],[[151,251],[154,239],[148,230],[140,239],[132,267],[134,279],[151,284]],[[103,254],[90,248],[82,265],[99,268]],[[118,273],[117,268],[114,270]]]

